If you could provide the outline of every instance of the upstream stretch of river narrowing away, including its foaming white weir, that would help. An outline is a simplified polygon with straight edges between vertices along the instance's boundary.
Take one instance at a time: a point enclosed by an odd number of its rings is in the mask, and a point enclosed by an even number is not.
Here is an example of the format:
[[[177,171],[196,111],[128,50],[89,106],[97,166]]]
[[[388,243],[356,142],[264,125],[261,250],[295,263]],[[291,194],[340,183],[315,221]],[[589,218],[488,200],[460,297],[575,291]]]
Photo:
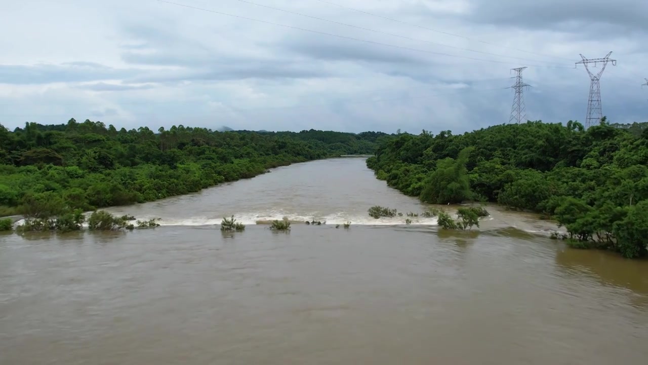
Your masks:
[[[376,220],[367,212],[374,205],[397,209],[403,215]],[[157,223],[174,227],[215,228],[222,218],[233,215],[246,225],[286,219],[294,225],[315,220],[328,227],[351,222],[351,227],[410,226],[436,231],[437,218],[422,216],[430,207],[454,215],[461,205],[426,205],[402,195],[376,180],[364,158],[327,158],[281,166],[253,179],[223,183],[192,194],[104,209],[115,216],[135,216],[138,220],[161,218]],[[486,207],[491,215],[482,218],[480,227],[472,231],[517,229],[549,236],[558,230],[552,222],[538,220],[534,214],[492,204]],[[410,212],[419,216],[408,216]]]

